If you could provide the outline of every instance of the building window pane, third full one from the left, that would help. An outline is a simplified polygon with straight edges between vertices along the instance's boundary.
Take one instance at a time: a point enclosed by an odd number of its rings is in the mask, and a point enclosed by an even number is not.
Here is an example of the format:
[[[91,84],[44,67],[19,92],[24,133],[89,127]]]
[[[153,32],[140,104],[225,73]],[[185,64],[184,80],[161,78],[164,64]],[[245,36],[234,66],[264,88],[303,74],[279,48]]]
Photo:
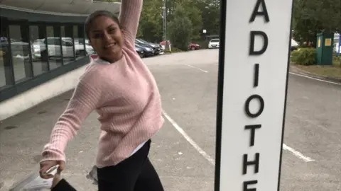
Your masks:
[[[50,65],[50,70],[53,70],[63,65],[60,27],[47,26],[46,33],[48,44],[48,64]]]

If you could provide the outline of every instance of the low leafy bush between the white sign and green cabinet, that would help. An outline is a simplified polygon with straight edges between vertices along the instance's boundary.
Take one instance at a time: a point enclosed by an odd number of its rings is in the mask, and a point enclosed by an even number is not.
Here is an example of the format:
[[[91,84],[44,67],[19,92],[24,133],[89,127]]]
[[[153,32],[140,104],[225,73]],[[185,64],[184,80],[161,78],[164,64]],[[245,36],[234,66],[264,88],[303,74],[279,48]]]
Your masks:
[[[291,60],[299,65],[313,65],[316,64],[316,50],[315,48],[301,48],[291,53]]]

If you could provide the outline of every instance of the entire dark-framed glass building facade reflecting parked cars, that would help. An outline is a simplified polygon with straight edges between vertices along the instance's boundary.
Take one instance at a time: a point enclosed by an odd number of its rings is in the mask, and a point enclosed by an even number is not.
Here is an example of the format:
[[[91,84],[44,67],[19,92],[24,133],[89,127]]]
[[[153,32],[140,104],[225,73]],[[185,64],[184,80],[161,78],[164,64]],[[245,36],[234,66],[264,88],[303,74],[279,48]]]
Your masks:
[[[0,102],[87,64],[84,21],[0,8]]]

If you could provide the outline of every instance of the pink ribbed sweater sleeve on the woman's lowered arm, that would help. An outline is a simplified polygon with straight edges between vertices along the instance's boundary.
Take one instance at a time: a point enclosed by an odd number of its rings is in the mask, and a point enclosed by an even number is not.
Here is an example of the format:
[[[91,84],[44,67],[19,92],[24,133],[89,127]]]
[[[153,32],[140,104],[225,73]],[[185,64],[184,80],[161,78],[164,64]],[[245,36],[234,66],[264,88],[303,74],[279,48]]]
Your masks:
[[[101,83],[94,78],[94,74],[85,72],[75,87],[72,98],[53,127],[50,141],[43,148],[42,161],[65,161],[65,147],[82,122],[97,108],[101,98]]]

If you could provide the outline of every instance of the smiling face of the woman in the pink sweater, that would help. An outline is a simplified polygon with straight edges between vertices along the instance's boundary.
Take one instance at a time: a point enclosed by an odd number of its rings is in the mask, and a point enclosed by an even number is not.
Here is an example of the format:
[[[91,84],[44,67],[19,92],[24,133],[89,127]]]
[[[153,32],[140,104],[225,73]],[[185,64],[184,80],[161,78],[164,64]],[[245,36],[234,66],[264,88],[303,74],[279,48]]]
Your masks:
[[[90,44],[99,57],[110,63],[121,59],[124,33],[117,22],[107,16],[98,16],[92,21],[89,32]]]

